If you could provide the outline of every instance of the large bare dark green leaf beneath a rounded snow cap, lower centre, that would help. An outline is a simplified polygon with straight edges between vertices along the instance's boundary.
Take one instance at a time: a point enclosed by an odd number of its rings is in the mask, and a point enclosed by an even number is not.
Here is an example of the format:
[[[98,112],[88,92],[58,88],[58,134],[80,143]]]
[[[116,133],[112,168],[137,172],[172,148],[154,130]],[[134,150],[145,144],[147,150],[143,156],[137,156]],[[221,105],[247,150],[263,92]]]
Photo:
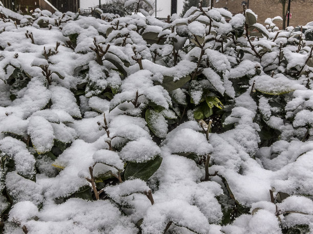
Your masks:
[[[124,177],[126,180],[132,178],[148,180],[159,169],[161,163],[162,158],[159,155],[144,163],[127,163]]]

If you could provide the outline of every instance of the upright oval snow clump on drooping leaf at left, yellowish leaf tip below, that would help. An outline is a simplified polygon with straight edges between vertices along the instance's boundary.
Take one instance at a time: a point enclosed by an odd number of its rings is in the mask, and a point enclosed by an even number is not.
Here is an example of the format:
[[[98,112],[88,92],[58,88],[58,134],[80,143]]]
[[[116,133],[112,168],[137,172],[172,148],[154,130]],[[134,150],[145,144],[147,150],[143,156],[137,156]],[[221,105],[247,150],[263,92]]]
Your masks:
[[[50,151],[53,146],[54,132],[51,123],[41,116],[32,116],[27,133],[38,153]]]

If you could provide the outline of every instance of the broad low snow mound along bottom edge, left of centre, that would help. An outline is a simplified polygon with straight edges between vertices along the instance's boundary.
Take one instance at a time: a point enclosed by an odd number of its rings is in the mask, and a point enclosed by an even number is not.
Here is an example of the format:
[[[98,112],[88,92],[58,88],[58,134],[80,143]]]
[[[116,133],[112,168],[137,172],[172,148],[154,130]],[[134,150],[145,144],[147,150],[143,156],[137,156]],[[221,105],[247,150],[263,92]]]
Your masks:
[[[62,204],[47,204],[40,210],[38,218],[38,221],[24,223],[29,232],[132,234],[138,231],[116,206],[103,200],[71,198]]]

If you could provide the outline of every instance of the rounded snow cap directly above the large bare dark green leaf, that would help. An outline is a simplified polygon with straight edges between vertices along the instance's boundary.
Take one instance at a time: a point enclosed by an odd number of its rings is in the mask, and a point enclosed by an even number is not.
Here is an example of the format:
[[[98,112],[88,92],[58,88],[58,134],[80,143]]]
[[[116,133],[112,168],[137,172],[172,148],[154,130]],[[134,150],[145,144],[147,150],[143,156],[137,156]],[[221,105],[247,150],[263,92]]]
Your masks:
[[[128,142],[120,152],[121,159],[131,162],[145,162],[161,154],[159,146],[150,139],[139,138]]]

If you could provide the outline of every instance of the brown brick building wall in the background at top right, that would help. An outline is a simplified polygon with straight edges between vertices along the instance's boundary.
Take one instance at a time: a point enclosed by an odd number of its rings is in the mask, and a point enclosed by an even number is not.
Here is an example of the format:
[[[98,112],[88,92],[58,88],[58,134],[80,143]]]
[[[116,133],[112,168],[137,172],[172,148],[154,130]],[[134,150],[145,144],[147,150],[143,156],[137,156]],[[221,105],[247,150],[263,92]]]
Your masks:
[[[213,6],[216,8],[227,7],[233,14],[242,13],[242,0],[213,1]],[[244,1],[248,2],[248,0]],[[258,22],[262,24],[264,24],[266,18],[282,17],[282,5],[278,0],[250,0],[249,8],[258,15]],[[307,22],[313,21],[313,2],[310,3],[310,0],[304,0],[303,2],[294,0],[290,4],[290,13],[292,14],[292,18],[289,20],[290,26],[305,25]],[[282,27],[282,21],[276,21],[275,23],[278,27]]]

